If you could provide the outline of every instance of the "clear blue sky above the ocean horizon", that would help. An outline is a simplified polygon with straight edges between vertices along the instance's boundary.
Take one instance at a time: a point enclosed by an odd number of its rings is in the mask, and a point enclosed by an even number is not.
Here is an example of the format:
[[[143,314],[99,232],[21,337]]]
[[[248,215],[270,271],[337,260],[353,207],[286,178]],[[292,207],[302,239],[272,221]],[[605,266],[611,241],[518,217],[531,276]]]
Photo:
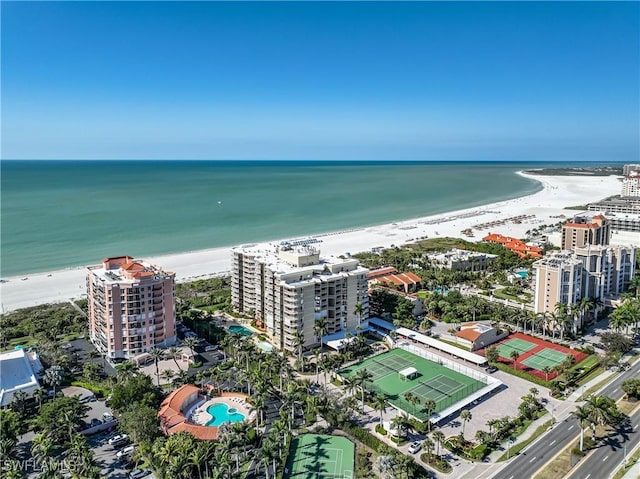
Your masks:
[[[7,2],[3,158],[640,159],[637,2]]]

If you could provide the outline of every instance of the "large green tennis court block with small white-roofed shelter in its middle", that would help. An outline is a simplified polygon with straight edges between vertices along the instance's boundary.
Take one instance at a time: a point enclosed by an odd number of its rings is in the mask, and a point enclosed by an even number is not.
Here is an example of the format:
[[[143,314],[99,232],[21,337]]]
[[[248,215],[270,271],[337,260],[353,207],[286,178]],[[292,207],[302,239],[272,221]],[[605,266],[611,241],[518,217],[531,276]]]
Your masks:
[[[408,379],[400,374],[408,367],[417,370],[417,377]],[[485,386],[461,372],[399,348],[365,359],[338,374],[349,378],[362,369],[371,374],[371,381],[365,385],[369,391],[383,394],[393,406],[422,421],[428,419],[428,411],[424,409],[426,400],[436,404],[431,413],[440,412]],[[407,401],[409,392],[417,401]]]

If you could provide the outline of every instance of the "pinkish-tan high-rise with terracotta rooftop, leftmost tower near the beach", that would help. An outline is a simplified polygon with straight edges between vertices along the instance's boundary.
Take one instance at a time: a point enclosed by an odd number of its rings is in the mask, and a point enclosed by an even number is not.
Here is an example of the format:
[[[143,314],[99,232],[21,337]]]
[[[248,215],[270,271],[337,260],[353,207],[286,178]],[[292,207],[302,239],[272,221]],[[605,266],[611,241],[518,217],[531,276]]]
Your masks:
[[[131,359],[176,342],[175,274],[130,256],[87,268],[89,332],[110,358]]]

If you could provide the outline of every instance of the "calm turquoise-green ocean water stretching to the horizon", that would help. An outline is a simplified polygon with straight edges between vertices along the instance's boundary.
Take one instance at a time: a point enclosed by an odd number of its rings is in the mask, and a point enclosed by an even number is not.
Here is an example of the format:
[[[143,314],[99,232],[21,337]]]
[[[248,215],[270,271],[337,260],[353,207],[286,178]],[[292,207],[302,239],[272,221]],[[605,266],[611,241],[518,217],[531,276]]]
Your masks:
[[[538,182],[515,172],[544,166],[549,165],[3,160],[0,275],[478,206],[538,191]]]

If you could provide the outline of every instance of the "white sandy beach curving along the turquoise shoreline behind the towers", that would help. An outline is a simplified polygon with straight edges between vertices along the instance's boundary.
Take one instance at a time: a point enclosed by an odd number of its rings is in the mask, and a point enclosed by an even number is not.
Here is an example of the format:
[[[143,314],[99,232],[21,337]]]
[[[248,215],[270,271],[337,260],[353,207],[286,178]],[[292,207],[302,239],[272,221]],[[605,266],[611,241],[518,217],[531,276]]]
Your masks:
[[[423,237],[451,236],[471,241],[480,241],[489,233],[522,237],[531,228],[557,223],[562,219],[560,215],[568,217],[578,213],[575,210],[565,210],[565,207],[583,205],[619,194],[621,187],[620,178],[615,176],[525,176],[540,181],[544,189],[533,195],[481,207],[314,237],[321,240],[318,245],[323,256],[369,251],[378,246],[401,245]],[[462,230],[474,228],[481,223],[506,220],[518,215],[533,216],[520,224],[506,221],[491,228],[474,229],[474,238],[467,238],[461,233]],[[145,259],[167,271],[174,271],[178,281],[185,281],[228,272],[231,264],[230,249],[231,247],[215,248]],[[123,251],[122,254],[127,252]],[[96,258],[95,263],[99,263],[101,259]],[[23,279],[26,277],[28,279]],[[86,288],[84,268],[29,274],[5,280],[0,285],[3,312],[77,299],[85,294]]]

